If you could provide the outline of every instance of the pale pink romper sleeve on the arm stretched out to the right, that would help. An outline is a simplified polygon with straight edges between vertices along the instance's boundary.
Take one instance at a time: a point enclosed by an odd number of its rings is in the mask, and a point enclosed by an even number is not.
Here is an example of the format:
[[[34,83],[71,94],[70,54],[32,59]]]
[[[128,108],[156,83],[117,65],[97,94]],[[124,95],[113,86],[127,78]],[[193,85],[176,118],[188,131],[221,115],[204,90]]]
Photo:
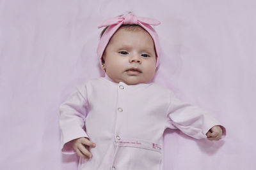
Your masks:
[[[207,132],[214,125],[220,125],[223,136],[226,134],[225,127],[223,127],[218,120],[202,109],[180,101],[175,97],[173,92],[170,92],[168,118],[170,129],[179,129],[192,138],[207,138]]]

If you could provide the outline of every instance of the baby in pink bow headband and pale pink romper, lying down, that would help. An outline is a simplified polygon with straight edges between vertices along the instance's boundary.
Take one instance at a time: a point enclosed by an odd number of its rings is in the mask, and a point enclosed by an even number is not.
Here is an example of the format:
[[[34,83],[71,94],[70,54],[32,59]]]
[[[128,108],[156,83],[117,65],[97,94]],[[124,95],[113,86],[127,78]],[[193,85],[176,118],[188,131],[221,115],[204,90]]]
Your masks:
[[[79,169],[159,170],[163,132],[221,139],[225,127],[151,82],[160,57],[160,22],[131,13],[106,20],[97,54],[106,76],[90,80],[60,106],[61,148]]]

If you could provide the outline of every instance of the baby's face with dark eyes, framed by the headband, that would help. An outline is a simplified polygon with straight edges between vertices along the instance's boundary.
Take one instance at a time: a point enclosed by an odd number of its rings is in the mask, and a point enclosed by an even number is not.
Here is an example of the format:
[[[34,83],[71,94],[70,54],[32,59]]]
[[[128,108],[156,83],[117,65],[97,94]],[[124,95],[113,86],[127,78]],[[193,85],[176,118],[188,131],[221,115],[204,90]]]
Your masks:
[[[153,78],[156,71],[154,41],[143,29],[118,29],[102,57],[105,61],[106,74],[116,83],[146,83]]]

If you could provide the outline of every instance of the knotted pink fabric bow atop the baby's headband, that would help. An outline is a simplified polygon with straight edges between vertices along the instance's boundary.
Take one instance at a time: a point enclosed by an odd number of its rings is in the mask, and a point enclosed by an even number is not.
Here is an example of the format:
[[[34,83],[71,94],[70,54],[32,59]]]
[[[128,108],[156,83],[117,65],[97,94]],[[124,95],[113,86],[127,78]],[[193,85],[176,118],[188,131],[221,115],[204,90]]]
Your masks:
[[[114,25],[114,24],[136,24],[138,25],[139,22],[141,24],[148,24],[148,25],[159,25],[161,22],[158,20],[154,20],[151,18],[145,18],[145,17],[136,17],[135,15],[132,15],[131,13],[127,13],[125,15],[122,15],[120,17],[115,17],[115,18],[110,18],[105,20],[101,25],[99,25],[98,28],[101,27],[107,27],[109,25]]]

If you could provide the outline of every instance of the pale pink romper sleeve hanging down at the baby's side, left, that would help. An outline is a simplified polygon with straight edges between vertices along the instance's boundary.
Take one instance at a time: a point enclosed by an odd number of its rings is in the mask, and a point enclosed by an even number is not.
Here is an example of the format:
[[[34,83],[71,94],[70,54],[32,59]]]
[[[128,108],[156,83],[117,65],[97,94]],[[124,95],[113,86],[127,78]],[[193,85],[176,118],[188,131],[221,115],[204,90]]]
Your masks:
[[[84,119],[86,117],[88,100],[86,98],[86,86],[78,87],[68,97],[67,101],[60,105],[60,141],[61,152],[74,154],[70,141],[77,138],[89,138],[84,131]]]

